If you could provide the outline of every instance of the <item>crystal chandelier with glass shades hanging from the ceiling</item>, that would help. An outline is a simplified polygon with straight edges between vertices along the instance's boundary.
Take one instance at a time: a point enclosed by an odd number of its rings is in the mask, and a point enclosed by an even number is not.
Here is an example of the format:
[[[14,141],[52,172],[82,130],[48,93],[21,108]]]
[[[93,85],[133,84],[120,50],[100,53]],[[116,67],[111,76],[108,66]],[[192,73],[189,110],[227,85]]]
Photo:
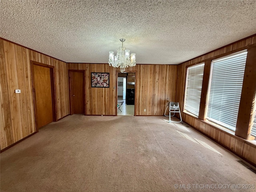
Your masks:
[[[112,65],[112,67],[120,67],[120,72],[123,73],[126,67],[136,66],[136,60],[135,53],[132,53],[130,58],[130,50],[123,47],[125,39],[122,38],[120,41],[122,42],[122,47],[119,47],[116,56],[114,56],[113,51],[109,52],[108,64],[109,66]]]

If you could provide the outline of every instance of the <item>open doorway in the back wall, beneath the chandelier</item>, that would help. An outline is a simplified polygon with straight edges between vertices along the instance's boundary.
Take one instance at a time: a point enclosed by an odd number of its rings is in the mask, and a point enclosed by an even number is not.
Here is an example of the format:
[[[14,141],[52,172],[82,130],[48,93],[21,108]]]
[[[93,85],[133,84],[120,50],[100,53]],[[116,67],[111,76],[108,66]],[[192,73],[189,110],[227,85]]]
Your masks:
[[[117,75],[117,115],[135,115],[135,72]]]

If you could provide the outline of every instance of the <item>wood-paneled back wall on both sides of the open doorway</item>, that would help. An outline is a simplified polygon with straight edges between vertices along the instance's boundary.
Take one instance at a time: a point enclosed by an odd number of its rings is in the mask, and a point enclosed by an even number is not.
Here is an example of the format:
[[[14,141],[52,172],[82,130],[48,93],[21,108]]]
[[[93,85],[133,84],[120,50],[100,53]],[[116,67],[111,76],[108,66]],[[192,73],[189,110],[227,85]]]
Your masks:
[[[68,63],[68,70],[86,72],[86,115],[116,115],[116,71],[108,64]],[[176,65],[138,64],[126,72],[136,72],[135,115],[163,115],[167,98],[176,98]],[[110,88],[92,88],[91,72],[109,72]],[[146,109],[146,112],[144,112]]]

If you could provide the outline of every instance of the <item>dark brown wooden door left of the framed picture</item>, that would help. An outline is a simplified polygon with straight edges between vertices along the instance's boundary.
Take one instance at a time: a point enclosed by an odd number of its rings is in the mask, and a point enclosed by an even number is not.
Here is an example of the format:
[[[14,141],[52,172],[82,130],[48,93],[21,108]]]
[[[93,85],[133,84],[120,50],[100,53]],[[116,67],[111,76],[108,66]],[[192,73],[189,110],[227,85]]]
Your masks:
[[[69,71],[71,114],[84,113],[84,71]]]

